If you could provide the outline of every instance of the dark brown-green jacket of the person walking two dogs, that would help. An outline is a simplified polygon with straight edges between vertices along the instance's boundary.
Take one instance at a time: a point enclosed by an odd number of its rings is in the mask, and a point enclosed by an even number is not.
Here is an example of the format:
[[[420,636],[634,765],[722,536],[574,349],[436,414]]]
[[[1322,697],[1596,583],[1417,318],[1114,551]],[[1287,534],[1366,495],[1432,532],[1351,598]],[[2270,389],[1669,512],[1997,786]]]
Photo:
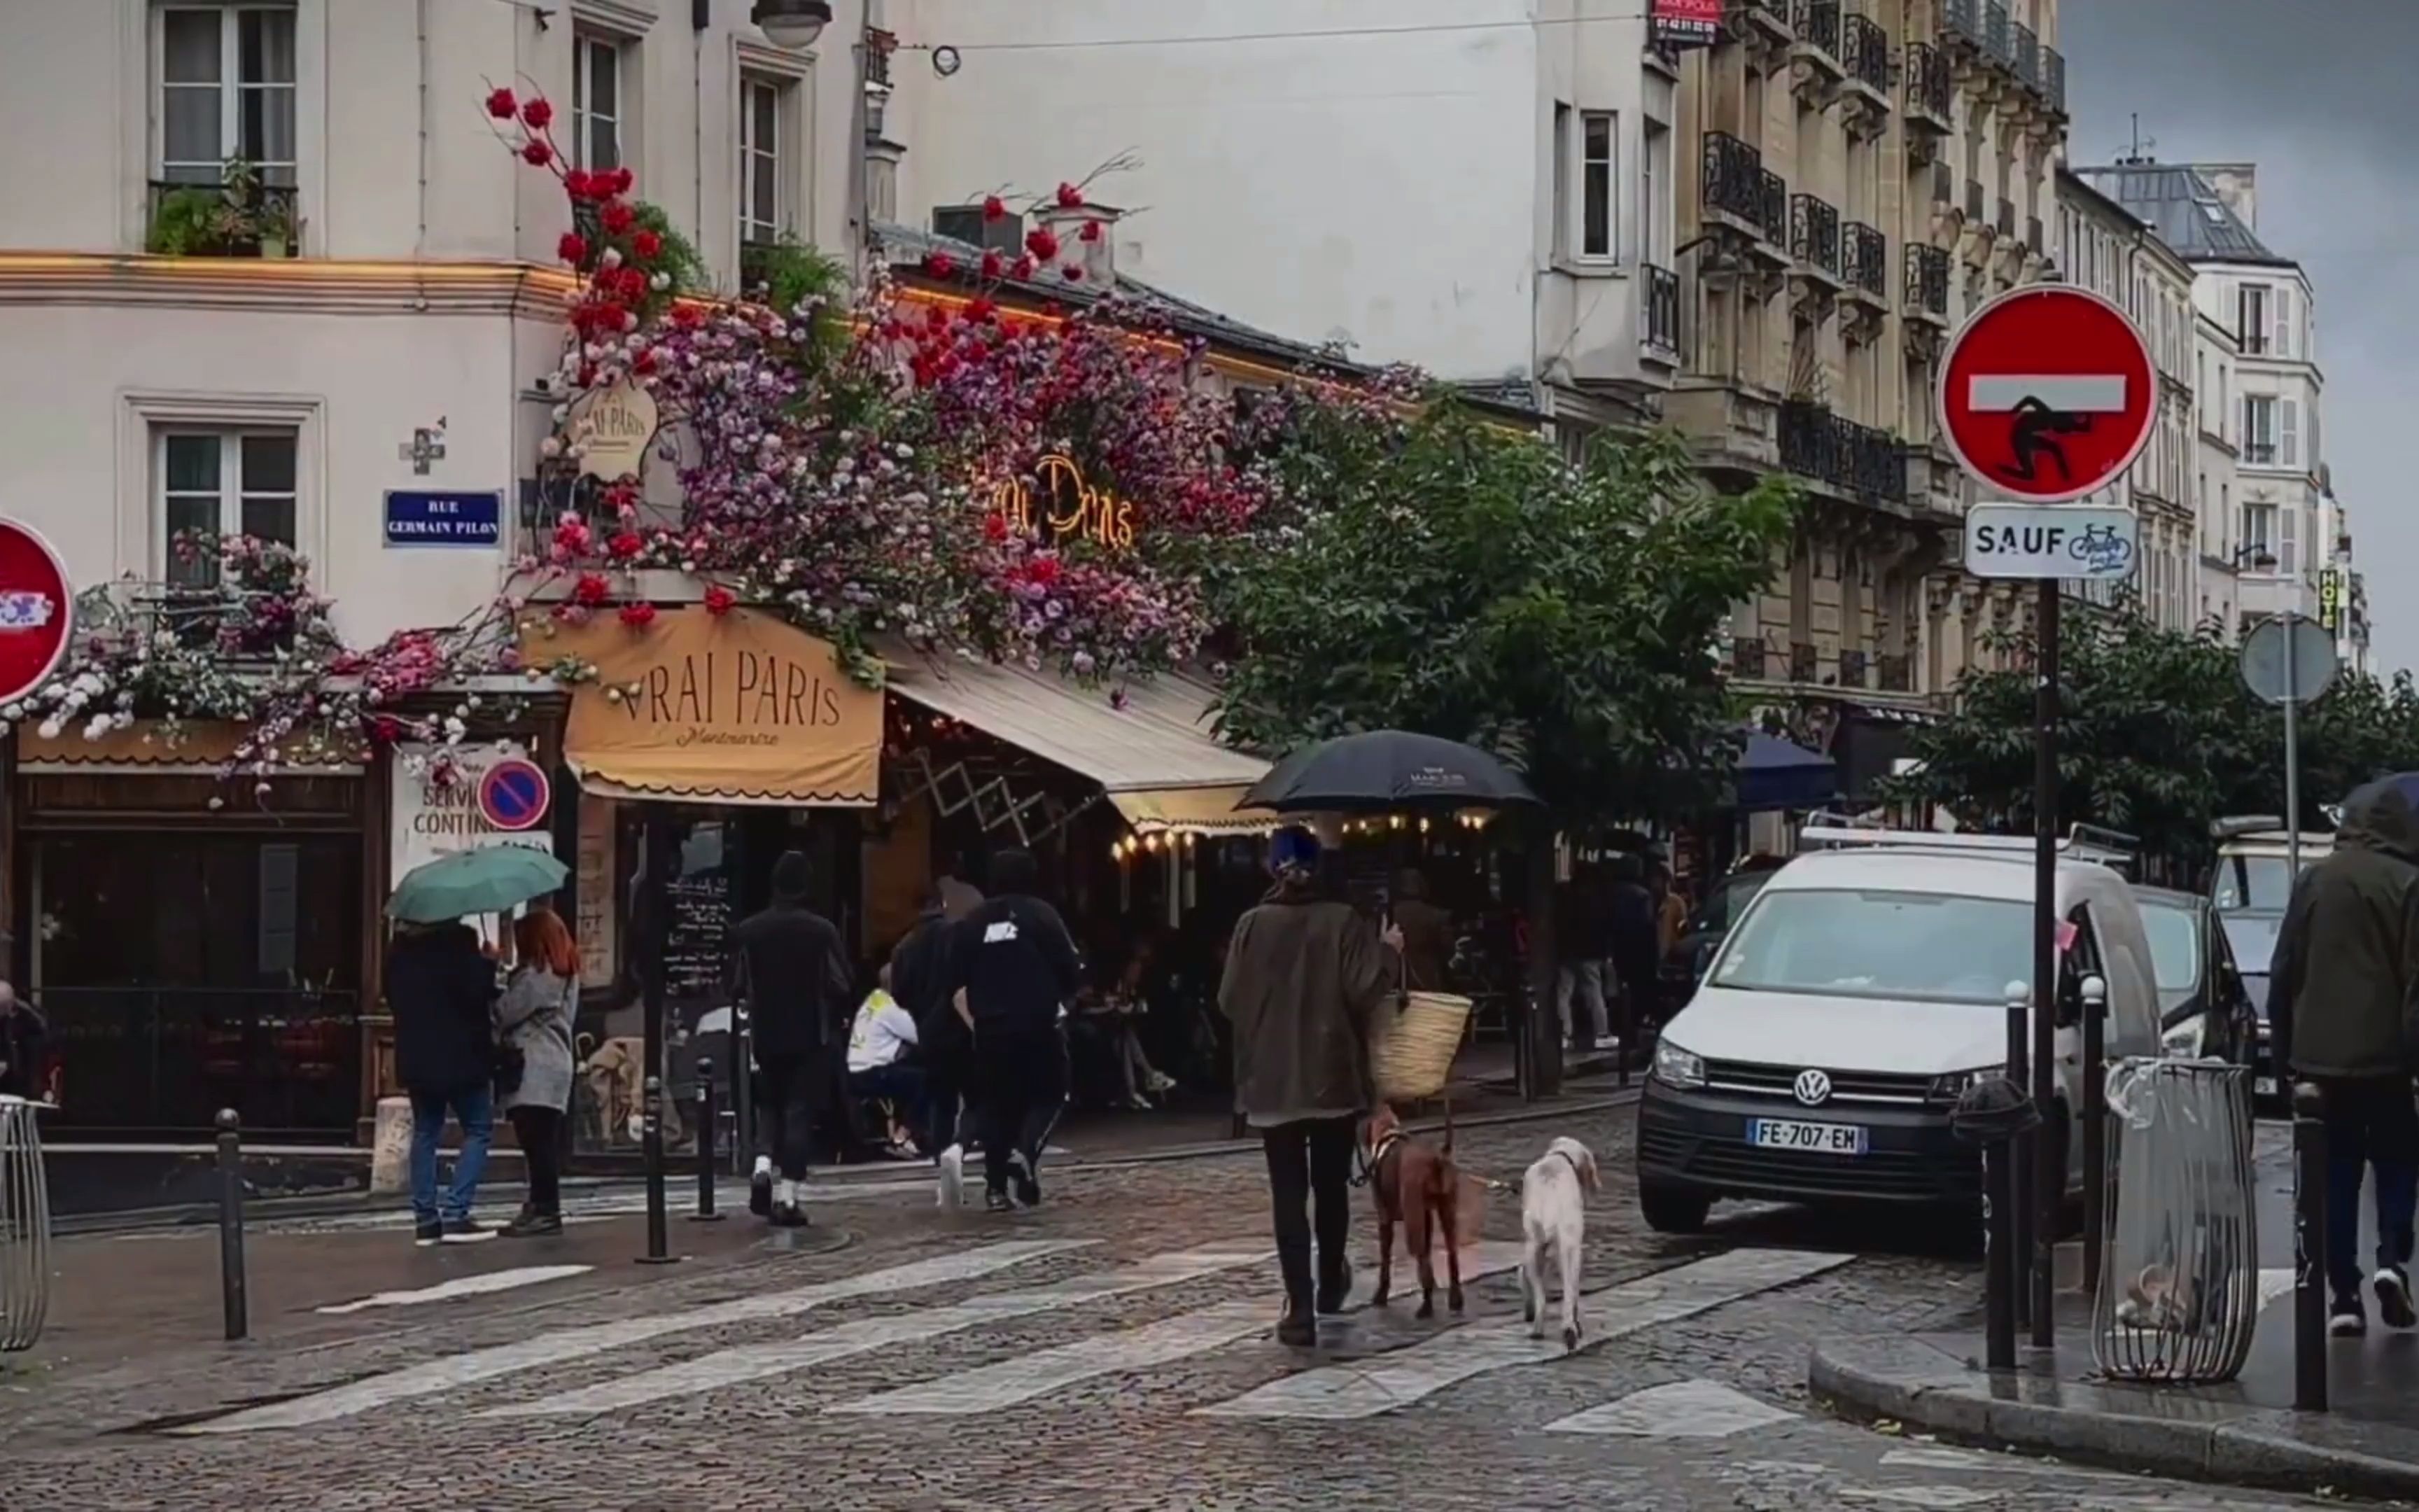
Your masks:
[[[1401,982],[1376,927],[1287,878],[1236,919],[1217,1006],[1234,1021],[1234,1106],[1258,1123],[1369,1106],[1369,1014]]]

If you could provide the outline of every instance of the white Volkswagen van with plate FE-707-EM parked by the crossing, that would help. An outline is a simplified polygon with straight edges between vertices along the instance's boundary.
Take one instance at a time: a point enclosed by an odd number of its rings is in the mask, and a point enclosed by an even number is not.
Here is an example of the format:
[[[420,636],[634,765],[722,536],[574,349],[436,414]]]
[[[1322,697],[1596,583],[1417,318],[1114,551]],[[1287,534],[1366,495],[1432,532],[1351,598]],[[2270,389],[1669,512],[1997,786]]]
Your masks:
[[[2032,980],[2032,842],[1807,827],[1664,1026],[1638,1103],[1638,1205],[1688,1234],[1720,1198],[1974,1205],[1981,1159],[1950,1108],[2008,1057]],[[2158,977],[2121,854],[2071,839],[2056,992],[2054,1159],[2080,1185],[2083,980],[2107,982],[2107,1057],[2158,1055]],[[2027,1045],[2032,1040],[2027,1038]]]

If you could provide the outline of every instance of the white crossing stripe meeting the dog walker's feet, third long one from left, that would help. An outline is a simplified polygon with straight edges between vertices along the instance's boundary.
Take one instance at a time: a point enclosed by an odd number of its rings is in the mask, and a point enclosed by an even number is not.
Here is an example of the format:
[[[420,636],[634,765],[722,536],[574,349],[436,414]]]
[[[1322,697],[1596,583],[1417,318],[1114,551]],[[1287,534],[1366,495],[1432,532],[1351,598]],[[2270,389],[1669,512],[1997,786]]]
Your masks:
[[[1517,1268],[1519,1256],[1522,1246],[1517,1243],[1480,1243],[1476,1251],[1463,1256],[1461,1277],[1466,1282],[1476,1282],[1485,1275],[1500,1275]],[[1364,1270],[1352,1277],[1352,1302],[1369,1302],[1372,1289],[1372,1272]],[[1178,1360],[1190,1360],[1193,1355],[1207,1355],[1210,1350],[1222,1350],[1246,1338],[1268,1333],[1268,1323],[1270,1304],[1265,1299],[1222,1302],[1219,1306],[1178,1314],[1173,1318],[1144,1323],[1142,1328],[1103,1333],[1072,1345],[1057,1345],[1055,1350],[1040,1350],[1038,1355],[1021,1355],[1016,1360],[1001,1360],[999,1364],[985,1364],[980,1369],[963,1369],[953,1377],[939,1377],[917,1386],[881,1391],[876,1396],[842,1403],[832,1410],[965,1418],[972,1413],[1011,1408],[1098,1377],[1154,1369],[1161,1364],[1176,1364]]]

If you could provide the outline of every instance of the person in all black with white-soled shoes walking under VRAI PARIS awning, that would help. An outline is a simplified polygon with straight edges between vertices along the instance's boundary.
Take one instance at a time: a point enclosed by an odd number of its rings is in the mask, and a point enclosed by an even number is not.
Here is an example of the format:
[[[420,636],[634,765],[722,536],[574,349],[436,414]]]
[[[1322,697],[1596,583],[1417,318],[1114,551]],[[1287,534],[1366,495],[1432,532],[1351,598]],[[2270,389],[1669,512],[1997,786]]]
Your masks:
[[[832,922],[806,907],[806,856],[781,852],[772,866],[772,907],[731,931],[733,992],[747,999],[747,1033],[764,1069],[779,1181],[757,1171],[747,1202],[776,1227],[806,1222],[798,1185],[815,1123],[839,1081],[835,1048],[851,1004],[849,953]]]

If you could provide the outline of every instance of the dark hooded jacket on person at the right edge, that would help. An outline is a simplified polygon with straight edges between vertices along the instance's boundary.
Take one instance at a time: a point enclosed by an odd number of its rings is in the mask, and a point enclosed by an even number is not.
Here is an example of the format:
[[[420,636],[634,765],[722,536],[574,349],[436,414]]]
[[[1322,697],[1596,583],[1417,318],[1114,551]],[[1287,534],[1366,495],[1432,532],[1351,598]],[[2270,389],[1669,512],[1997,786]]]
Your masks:
[[[2392,779],[2344,803],[2276,934],[2269,1028],[2303,1077],[2407,1077],[2419,999],[2419,813]]]

